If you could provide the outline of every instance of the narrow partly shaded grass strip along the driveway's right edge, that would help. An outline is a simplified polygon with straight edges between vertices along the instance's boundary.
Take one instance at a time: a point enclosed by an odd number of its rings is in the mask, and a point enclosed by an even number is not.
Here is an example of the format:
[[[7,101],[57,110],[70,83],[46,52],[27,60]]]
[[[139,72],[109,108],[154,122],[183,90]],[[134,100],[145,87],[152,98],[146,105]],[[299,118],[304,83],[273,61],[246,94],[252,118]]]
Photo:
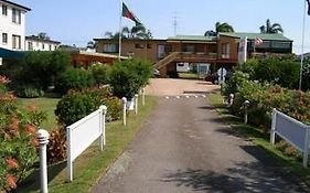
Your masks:
[[[285,154],[282,151],[271,146],[269,135],[264,133],[257,127],[243,124],[243,119],[231,115],[223,104],[223,97],[218,94],[212,94],[209,97],[211,104],[216,108],[222,118],[228,122],[233,130],[240,133],[242,137],[253,141],[256,146],[263,148],[269,156],[284,168],[288,175],[297,176],[310,186],[310,169],[302,167],[301,160]]]

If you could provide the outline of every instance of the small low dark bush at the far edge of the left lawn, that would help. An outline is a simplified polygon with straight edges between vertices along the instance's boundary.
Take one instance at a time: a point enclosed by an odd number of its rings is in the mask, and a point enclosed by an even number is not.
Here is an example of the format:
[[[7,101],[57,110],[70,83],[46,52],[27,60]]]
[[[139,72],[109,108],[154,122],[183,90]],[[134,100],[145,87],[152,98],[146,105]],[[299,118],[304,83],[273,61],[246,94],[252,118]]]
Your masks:
[[[22,98],[38,98],[44,95],[44,92],[33,85],[21,85],[15,88],[15,95]]]

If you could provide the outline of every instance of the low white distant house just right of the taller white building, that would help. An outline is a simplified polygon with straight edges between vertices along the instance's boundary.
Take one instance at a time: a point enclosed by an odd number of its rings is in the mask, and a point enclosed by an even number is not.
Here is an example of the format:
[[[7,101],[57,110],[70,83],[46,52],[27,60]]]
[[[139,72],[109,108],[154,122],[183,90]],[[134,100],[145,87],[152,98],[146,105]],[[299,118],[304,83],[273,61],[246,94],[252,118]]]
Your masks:
[[[36,35],[25,37],[25,51],[55,51],[61,42],[50,39],[41,39]]]

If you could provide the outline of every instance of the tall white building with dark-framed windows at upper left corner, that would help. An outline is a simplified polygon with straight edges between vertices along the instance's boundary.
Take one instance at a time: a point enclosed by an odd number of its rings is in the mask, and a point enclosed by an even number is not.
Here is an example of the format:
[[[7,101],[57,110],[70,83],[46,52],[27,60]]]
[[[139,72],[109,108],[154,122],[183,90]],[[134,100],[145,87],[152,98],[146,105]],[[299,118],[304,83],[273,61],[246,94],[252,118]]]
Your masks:
[[[29,8],[12,1],[0,0],[0,47],[23,51],[25,13]]]

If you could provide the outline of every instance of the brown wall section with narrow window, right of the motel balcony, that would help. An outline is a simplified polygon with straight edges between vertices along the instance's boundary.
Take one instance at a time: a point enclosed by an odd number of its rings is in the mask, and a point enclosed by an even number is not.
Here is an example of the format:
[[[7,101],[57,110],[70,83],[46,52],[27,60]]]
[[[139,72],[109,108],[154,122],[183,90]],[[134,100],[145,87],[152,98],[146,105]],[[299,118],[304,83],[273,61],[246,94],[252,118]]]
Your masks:
[[[228,57],[223,56],[222,46],[223,44],[229,45],[229,54]],[[237,63],[238,61],[238,39],[229,37],[229,36],[220,36],[217,40],[217,61],[225,63]]]

